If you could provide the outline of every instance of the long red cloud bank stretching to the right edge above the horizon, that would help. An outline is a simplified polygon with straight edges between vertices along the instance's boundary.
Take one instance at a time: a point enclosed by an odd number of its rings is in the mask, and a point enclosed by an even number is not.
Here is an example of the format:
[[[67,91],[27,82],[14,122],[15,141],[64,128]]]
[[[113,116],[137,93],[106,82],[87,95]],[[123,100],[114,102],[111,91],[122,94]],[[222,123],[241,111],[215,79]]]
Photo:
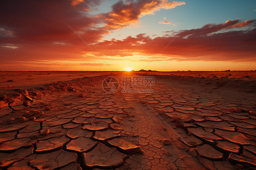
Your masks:
[[[117,49],[120,49],[119,56],[126,56],[127,51],[152,56],[159,54],[171,42],[161,53],[161,60],[255,61],[256,28],[215,32],[221,29],[240,28],[241,25],[246,26],[255,22],[256,20],[227,21],[225,24],[208,24],[199,29],[181,30],[176,35],[168,37],[152,39],[140,34],[136,37],[128,36],[124,40],[104,41],[94,46],[100,50],[101,55],[106,56],[117,55]]]

